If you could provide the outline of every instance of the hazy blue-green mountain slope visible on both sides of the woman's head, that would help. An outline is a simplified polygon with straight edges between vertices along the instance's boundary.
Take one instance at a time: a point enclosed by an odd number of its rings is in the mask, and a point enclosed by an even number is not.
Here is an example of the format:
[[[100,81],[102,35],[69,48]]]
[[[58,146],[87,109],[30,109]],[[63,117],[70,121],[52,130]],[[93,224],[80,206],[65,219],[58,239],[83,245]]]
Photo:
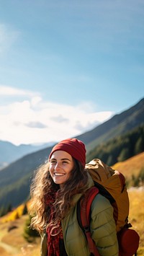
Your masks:
[[[76,136],[86,144],[87,154],[97,144],[108,141],[109,138],[125,134],[144,123],[144,99],[124,112],[114,115],[107,122],[97,126],[92,131]],[[0,205],[12,203],[18,206],[29,197],[30,183],[34,170],[45,163],[52,146],[23,156],[9,164],[0,172]]]

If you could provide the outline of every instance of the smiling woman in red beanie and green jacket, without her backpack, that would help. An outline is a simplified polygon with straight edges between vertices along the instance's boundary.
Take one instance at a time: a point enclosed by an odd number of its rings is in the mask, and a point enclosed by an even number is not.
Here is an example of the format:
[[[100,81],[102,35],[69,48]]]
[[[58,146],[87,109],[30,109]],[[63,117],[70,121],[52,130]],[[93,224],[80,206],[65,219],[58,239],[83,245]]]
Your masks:
[[[77,220],[77,203],[94,186],[84,170],[86,149],[76,138],[56,144],[32,182],[31,226],[42,236],[42,256],[88,256],[86,237]],[[118,255],[113,208],[98,194],[91,206],[91,237],[99,255]]]

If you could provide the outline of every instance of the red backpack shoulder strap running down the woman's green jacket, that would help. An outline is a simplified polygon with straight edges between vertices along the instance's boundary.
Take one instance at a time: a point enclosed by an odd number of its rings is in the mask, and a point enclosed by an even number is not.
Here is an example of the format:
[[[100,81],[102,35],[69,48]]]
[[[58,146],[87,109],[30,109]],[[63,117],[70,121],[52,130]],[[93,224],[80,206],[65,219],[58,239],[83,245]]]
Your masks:
[[[91,255],[94,255],[94,256],[99,256],[99,252],[96,248],[96,244],[91,238],[90,212],[91,212],[91,203],[98,193],[99,193],[99,190],[97,187],[90,187],[80,201],[81,226],[82,226],[82,229],[84,230],[84,234],[86,235],[86,239],[89,245],[89,250],[91,252]]]

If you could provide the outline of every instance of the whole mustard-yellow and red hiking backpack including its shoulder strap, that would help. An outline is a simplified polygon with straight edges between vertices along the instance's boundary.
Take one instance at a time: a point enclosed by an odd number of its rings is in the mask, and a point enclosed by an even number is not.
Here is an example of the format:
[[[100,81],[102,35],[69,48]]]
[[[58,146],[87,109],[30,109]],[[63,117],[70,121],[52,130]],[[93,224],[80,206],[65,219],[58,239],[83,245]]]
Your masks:
[[[78,223],[86,235],[91,255],[99,255],[90,232],[91,203],[98,193],[109,199],[114,208],[119,256],[136,255],[140,237],[135,230],[129,229],[132,226],[128,223],[130,202],[124,175],[99,159],[93,159],[86,164],[85,170],[94,180],[94,187],[90,187],[86,195],[78,202],[77,217]]]

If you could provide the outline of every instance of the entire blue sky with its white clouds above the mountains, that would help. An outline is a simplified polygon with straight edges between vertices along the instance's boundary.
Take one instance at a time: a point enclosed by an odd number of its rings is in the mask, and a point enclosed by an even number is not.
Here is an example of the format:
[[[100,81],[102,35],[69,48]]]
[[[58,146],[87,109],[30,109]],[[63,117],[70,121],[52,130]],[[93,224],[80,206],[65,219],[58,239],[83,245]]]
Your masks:
[[[143,0],[0,6],[0,140],[59,141],[143,98]]]

